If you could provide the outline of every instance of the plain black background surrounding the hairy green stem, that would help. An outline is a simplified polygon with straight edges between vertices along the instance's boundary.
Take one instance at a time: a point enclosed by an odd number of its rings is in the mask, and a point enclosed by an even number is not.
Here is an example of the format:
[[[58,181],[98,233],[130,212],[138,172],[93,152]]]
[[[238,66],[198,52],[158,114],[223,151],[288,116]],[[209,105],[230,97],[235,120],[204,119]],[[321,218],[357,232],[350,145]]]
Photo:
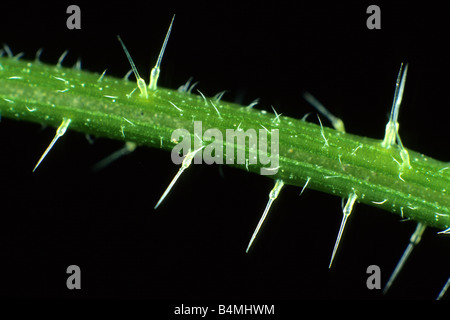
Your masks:
[[[310,1],[309,1],[310,2]],[[400,111],[403,144],[449,160],[450,6],[377,3],[381,30],[368,30],[372,4],[255,3],[162,8],[157,4],[78,3],[81,30],[66,28],[69,2],[6,6],[0,41],[23,59],[122,77],[130,68],[116,35],[148,79],[173,13],[159,84],[189,77],[206,95],[301,118],[314,112],[307,90],[351,133],[382,138],[400,63],[409,63]],[[316,122],[316,117],[309,118]],[[327,124],[329,126],[329,124]],[[449,241],[425,232],[391,291],[368,290],[366,268],[387,281],[414,222],[357,205],[334,266],[328,263],[341,199],[285,187],[249,254],[245,248],[273,181],[236,169],[193,165],[157,211],[178,167],[170,154],[138,148],[100,173],[91,166],[121,142],[69,131],[36,173],[52,128],[1,119],[0,296],[297,301],[434,299],[449,273]],[[66,288],[78,265],[82,289]],[[448,296],[448,294],[447,294]],[[447,297],[448,298],[448,297]],[[192,299],[198,299],[192,301]],[[211,301],[211,300],[209,300]]]

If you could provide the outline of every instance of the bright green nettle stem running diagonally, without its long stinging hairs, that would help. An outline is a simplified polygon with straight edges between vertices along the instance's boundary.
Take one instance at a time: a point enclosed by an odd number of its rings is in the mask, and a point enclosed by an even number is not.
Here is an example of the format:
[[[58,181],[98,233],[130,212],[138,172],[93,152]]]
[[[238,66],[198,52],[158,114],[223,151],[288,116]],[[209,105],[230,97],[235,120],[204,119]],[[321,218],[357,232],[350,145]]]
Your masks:
[[[0,58],[0,111],[2,117],[54,127],[70,119],[71,130],[165,150],[179,143],[172,139],[176,129],[198,139],[195,121],[202,122],[203,132],[216,128],[224,136],[227,129],[278,129],[279,167],[268,177],[300,188],[308,181],[315,190],[343,198],[355,194],[357,202],[403,218],[440,230],[450,227],[449,164],[407,150],[410,168],[404,170],[402,149],[385,148],[381,140],[202,94],[158,87],[145,99],[135,82],[14,58]],[[232,166],[255,173],[264,167]]]

